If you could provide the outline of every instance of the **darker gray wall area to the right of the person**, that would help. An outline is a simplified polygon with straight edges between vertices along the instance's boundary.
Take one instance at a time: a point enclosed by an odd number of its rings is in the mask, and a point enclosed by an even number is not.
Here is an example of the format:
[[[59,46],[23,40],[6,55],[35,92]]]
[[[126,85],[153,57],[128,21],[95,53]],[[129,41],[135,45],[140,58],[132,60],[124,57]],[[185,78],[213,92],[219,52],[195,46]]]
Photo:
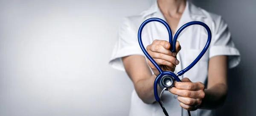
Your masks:
[[[229,71],[229,94],[217,116],[256,115],[256,0],[192,0],[207,11],[220,14],[229,24],[241,53],[241,64]]]

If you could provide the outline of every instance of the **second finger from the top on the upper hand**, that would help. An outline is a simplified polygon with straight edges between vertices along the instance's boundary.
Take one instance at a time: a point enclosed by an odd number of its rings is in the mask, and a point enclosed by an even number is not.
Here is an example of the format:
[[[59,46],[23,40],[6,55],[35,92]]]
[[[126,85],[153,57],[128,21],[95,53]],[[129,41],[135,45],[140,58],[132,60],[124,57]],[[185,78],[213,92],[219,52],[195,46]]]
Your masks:
[[[163,45],[161,44],[150,44],[147,46],[147,51],[159,52],[159,53],[163,53],[170,56],[172,55],[172,52],[166,49],[165,47],[163,47]]]

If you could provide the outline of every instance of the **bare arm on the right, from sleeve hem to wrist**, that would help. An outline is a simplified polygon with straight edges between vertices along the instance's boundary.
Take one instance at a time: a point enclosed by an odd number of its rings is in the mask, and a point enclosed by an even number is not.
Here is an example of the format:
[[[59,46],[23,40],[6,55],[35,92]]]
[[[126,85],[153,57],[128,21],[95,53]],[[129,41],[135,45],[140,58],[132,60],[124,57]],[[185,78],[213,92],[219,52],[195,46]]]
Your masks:
[[[212,109],[223,105],[227,96],[227,56],[209,59],[208,85],[204,90],[202,109]]]

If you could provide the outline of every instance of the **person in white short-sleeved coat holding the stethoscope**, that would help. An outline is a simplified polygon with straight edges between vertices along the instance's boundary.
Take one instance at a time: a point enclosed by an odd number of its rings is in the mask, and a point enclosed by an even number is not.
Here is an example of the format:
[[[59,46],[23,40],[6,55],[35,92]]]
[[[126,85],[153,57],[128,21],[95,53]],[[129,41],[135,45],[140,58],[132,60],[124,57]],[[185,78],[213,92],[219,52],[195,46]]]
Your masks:
[[[134,83],[129,115],[164,116],[153,94],[154,79],[159,72],[145,58],[137,41],[141,23],[151,17],[164,19],[173,33],[190,21],[204,22],[211,29],[212,41],[205,55],[180,77],[182,83],[175,82],[175,87],[165,91],[161,98],[169,116],[186,116],[186,110],[191,110],[192,116],[211,116],[212,109],[218,108],[225,101],[227,69],[239,64],[240,53],[221,16],[198,8],[186,0],[157,0],[141,14],[123,19],[110,65],[126,71]],[[159,22],[148,23],[143,28],[142,39],[148,53],[164,71],[178,72],[201,52],[207,41],[207,31],[200,25],[183,30],[177,39],[178,52],[170,52],[167,30]]]

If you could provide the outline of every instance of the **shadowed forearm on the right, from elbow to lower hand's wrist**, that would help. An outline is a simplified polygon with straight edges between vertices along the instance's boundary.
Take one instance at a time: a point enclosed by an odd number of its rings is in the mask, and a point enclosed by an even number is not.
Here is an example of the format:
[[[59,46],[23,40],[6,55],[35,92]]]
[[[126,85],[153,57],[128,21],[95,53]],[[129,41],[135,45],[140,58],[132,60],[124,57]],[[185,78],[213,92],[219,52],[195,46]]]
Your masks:
[[[227,85],[219,83],[205,89],[204,92],[205,97],[201,109],[215,109],[224,104],[227,97]]]

